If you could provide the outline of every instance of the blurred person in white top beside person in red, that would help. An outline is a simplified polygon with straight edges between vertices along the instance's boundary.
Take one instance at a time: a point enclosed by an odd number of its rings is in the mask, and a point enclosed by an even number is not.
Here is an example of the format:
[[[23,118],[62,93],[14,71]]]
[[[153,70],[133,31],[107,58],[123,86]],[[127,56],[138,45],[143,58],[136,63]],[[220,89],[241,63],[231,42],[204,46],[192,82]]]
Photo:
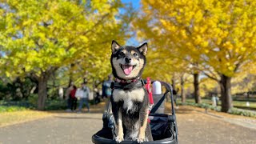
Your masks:
[[[88,110],[88,113],[90,113],[90,105],[89,105],[89,94],[90,89],[88,86],[86,86],[87,82],[83,82],[81,84],[81,88],[77,91],[76,97],[79,98],[79,106],[78,106],[78,113],[82,112],[82,106],[83,104],[86,104],[86,108]]]

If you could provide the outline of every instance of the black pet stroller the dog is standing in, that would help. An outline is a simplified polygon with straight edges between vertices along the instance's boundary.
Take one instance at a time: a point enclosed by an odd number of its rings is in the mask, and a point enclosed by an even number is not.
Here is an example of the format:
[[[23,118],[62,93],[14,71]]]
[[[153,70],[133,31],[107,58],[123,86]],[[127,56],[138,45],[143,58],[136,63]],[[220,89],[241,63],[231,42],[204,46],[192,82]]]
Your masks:
[[[153,94],[154,106],[150,110],[150,127],[154,141],[143,142],[147,144],[178,144],[178,127],[176,122],[176,115],[174,110],[174,98],[172,87],[166,83],[161,82],[162,86],[166,88],[163,94]],[[171,100],[171,114],[164,114],[165,98],[170,96]],[[114,141],[114,118],[110,114],[110,107],[103,114],[103,128],[92,136],[92,142],[96,144],[116,143]],[[159,114],[162,113],[162,114]],[[121,144],[137,143],[133,141],[122,141]]]

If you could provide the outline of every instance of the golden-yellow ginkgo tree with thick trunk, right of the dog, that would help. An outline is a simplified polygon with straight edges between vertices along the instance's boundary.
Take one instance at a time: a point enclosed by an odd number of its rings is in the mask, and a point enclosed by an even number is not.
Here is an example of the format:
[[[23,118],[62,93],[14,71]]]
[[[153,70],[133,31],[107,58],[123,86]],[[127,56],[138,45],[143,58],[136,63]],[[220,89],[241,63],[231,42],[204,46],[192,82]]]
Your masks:
[[[222,111],[230,110],[231,78],[255,60],[256,2],[142,0],[142,11],[134,22],[138,36],[152,39],[157,49],[167,47],[170,57],[175,54],[216,80]]]

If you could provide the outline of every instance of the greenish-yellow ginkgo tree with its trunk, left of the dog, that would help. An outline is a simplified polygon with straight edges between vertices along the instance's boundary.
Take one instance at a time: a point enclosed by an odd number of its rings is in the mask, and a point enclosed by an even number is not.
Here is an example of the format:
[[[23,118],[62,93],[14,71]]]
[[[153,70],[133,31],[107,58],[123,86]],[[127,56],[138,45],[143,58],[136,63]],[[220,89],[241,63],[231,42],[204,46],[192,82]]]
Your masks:
[[[102,66],[99,54],[110,49],[112,39],[126,38],[118,18],[122,6],[119,0],[0,1],[2,72],[37,78],[38,110],[43,110],[54,71],[78,60],[88,63],[88,70],[91,63]]]

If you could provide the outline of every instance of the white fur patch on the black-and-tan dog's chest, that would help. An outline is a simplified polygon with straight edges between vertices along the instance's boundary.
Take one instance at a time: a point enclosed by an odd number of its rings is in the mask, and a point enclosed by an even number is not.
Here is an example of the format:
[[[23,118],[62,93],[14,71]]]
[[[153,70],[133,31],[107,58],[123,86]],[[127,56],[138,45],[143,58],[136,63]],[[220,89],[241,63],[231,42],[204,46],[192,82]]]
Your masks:
[[[145,91],[143,88],[136,90],[120,90],[114,89],[113,99],[114,102],[123,101],[123,108],[131,110],[134,102],[142,102],[144,99]]]

